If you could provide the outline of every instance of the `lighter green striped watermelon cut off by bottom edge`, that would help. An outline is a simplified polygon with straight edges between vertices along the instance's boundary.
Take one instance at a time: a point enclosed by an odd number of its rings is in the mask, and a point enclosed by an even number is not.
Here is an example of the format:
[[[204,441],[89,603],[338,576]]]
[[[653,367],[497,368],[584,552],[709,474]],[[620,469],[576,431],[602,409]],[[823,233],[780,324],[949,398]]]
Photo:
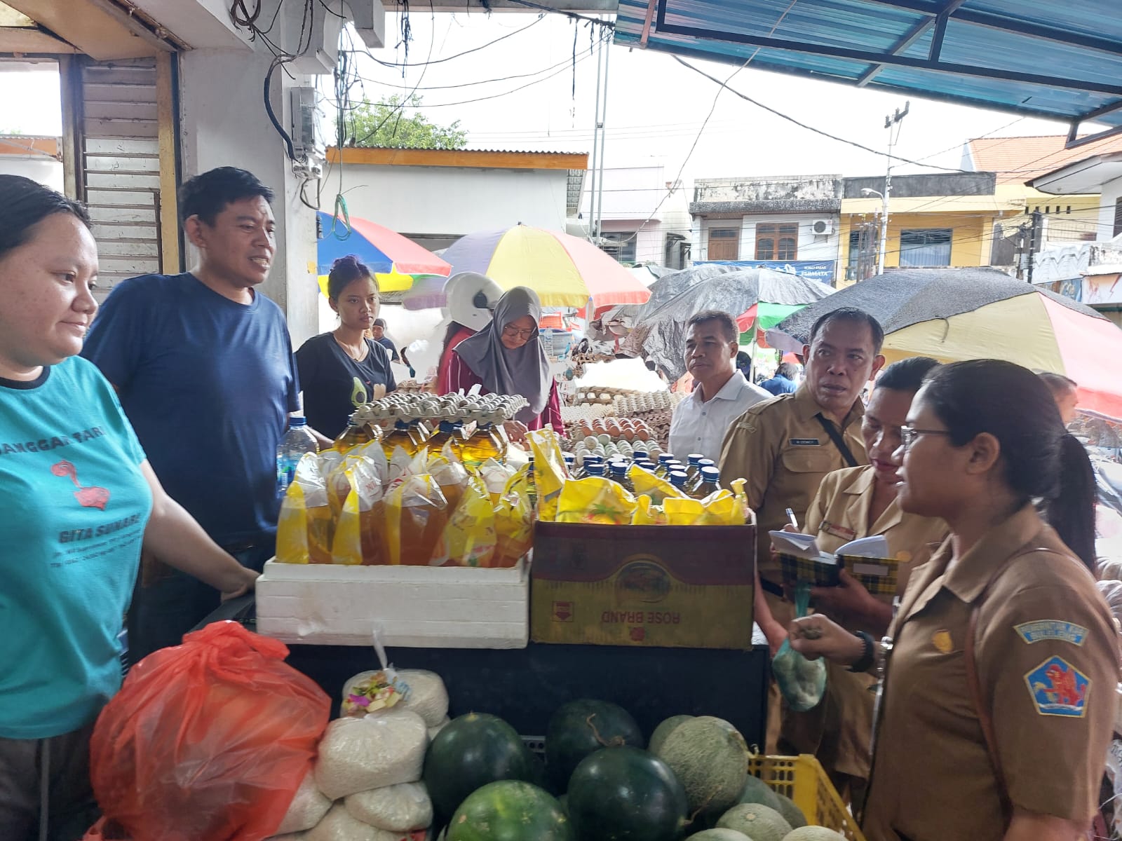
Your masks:
[[[553,796],[530,783],[504,779],[472,792],[448,824],[448,841],[576,841]]]

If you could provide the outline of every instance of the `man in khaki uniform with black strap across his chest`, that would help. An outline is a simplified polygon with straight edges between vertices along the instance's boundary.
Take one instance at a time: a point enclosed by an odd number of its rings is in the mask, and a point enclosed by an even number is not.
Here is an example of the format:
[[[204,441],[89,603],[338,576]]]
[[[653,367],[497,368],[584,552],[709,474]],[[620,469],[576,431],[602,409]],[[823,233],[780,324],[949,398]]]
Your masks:
[[[783,597],[767,533],[788,525],[788,508],[801,524],[827,473],[867,463],[858,423],[864,415],[861,391],[884,364],[883,342],[884,330],[868,313],[853,307],[827,313],[803,348],[807,377],[798,390],[751,407],[725,436],[721,483],[747,480],[748,505],[756,512],[756,570],[772,616],[784,627],[794,618],[794,607]],[[779,743],[780,710],[773,682],[767,752]]]

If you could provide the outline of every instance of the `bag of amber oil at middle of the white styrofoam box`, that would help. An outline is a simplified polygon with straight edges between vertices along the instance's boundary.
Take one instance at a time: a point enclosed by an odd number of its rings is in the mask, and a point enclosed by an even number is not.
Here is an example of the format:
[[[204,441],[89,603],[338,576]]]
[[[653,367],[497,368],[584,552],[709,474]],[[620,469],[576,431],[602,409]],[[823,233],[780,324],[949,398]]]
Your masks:
[[[386,495],[386,556],[427,566],[448,525],[448,500],[427,473],[407,475]]]

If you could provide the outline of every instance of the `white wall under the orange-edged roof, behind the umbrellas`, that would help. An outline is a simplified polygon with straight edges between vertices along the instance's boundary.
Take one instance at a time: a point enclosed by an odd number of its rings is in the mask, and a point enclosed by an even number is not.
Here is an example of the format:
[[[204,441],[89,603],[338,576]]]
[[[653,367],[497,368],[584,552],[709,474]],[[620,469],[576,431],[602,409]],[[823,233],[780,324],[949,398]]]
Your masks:
[[[350,214],[406,235],[463,235],[519,222],[563,231],[568,179],[567,169],[342,167]],[[338,184],[335,176],[325,184],[322,201],[328,213],[332,212]]]

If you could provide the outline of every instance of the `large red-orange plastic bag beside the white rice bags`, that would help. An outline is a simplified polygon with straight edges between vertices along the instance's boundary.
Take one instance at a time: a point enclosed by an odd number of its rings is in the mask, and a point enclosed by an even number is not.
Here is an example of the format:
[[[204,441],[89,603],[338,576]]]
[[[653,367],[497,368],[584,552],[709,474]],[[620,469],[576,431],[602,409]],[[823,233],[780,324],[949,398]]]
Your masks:
[[[98,803],[132,841],[260,841],[312,767],[331,700],[237,622],[149,655],[90,742]]]

